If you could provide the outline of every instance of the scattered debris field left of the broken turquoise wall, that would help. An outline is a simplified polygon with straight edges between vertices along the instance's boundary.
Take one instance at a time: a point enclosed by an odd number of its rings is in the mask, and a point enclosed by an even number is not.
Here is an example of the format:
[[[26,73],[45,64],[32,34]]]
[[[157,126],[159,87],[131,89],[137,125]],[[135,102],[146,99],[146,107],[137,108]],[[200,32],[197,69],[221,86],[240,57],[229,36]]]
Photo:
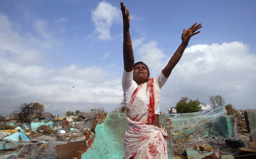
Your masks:
[[[81,158],[93,142],[96,125],[103,123],[106,115],[96,114],[80,122],[63,120],[55,127],[49,119],[18,126],[1,122],[0,158]],[[60,129],[53,130],[56,127]]]

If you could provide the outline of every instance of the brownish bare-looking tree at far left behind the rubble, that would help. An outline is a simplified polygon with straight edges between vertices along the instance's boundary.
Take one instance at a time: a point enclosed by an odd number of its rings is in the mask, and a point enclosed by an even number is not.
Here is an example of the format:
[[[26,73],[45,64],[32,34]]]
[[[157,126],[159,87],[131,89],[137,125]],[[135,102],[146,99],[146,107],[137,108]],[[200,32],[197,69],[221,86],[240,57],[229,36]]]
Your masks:
[[[32,122],[32,116],[35,113],[38,118],[45,111],[45,106],[40,103],[23,103],[16,108],[14,113],[18,114],[18,120],[22,123]]]

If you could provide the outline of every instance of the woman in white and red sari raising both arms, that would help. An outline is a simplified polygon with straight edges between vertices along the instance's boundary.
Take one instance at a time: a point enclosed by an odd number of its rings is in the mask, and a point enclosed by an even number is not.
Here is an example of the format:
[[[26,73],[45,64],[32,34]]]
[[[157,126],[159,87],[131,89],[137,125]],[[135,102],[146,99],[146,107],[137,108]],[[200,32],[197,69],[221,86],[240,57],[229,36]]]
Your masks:
[[[132,42],[130,37],[130,15],[121,2],[124,25],[124,72],[122,87],[125,101],[125,117],[128,127],[124,138],[124,159],[168,159],[166,138],[167,132],[159,123],[160,88],[179,62],[189,39],[198,34],[201,24],[193,24],[181,35],[181,44],[172,55],[166,67],[154,78],[149,78],[149,70],[145,63],[134,63]]]

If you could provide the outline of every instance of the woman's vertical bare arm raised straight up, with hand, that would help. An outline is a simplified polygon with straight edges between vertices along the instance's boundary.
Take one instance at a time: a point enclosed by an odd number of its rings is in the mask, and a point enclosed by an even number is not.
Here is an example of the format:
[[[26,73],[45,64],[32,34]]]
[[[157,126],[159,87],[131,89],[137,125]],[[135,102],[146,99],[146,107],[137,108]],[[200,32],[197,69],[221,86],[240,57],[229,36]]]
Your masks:
[[[132,41],[130,36],[130,14],[129,9],[125,9],[124,2],[120,2],[121,11],[123,14],[124,25],[124,42],[123,42],[123,56],[124,56],[124,69],[126,72],[131,72],[134,64],[134,56],[132,50]],[[126,11],[126,12],[125,12]]]

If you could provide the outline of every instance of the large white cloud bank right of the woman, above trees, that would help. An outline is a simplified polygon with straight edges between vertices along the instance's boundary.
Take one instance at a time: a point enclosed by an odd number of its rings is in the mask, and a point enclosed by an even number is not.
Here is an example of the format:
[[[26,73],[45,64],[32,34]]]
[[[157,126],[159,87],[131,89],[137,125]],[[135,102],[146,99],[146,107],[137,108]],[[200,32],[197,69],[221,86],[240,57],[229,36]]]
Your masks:
[[[238,109],[255,109],[255,63],[256,55],[241,42],[188,47],[162,88],[163,111],[180,97],[209,103],[214,95],[222,95]]]

